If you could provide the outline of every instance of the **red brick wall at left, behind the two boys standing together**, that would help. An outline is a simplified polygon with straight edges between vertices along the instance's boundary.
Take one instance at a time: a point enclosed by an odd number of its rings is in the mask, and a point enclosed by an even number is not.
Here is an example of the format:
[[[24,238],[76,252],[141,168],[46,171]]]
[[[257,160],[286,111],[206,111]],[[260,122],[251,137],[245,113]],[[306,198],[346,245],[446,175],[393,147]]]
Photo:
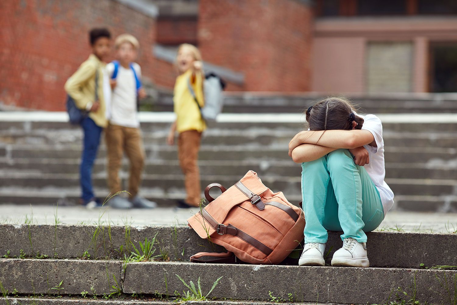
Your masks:
[[[137,61],[145,77],[155,78],[153,18],[113,0],[6,0],[0,1],[0,102],[64,110],[64,83],[89,56],[92,27],[138,37]]]

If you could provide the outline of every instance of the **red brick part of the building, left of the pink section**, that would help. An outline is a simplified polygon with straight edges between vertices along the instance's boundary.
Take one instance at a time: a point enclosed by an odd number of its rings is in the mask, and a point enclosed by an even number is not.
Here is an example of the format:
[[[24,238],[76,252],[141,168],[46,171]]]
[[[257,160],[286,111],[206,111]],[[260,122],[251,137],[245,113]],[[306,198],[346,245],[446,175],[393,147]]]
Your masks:
[[[244,74],[242,84],[229,80],[228,90],[309,90],[311,13],[303,1],[193,1],[198,18],[154,16],[129,5],[134,2],[2,1],[0,104],[64,110],[64,83],[90,54],[87,33],[93,27],[107,27],[113,37],[138,37],[143,78],[157,87],[171,89],[176,72],[170,60],[154,57],[153,46],[190,42],[202,49],[205,61]]]

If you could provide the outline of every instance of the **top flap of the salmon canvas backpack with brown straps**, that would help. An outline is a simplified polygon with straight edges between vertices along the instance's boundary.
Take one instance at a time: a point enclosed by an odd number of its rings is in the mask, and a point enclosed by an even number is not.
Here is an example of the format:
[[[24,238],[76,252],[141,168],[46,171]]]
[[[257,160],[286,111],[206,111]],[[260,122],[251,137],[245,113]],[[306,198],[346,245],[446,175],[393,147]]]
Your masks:
[[[223,224],[223,221],[227,218],[228,213],[234,206],[243,203],[244,201],[251,200],[250,196],[247,196],[240,190],[240,185],[244,185],[254,193],[253,195],[260,196],[267,190],[267,187],[262,183],[260,178],[257,177],[255,171],[248,171],[239,182],[241,182],[241,184],[237,183],[237,185],[228,188],[227,191],[222,193],[213,202],[208,203],[201,212],[187,219],[189,226],[194,229],[201,238],[208,238],[209,236],[218,233],[218,228],[219,230],[230,230],[230,227],[228,226],[218,225]],[[257,197],[251,197],[253,198],[251,201],[257,200]],[[259,202],[261,202],[261,200],[257,200],[255,203]],[[205,217],[203,217],[202,214],[204,214]],[[205,218],[210,221],[208,222]]]

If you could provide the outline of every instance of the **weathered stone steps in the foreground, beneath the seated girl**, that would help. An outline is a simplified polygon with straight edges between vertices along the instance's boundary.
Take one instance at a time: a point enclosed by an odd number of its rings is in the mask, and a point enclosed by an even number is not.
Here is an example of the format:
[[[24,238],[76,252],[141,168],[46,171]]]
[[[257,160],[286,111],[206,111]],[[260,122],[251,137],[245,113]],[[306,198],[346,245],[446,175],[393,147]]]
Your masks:
[[[201,278],[204,292],[222,277],[209,296],[216,301],[203,304],[227,300],[259,304],[271,301],[271,296],[287,303],[312,302],[306,304],[451,305],[457,301],[457,271],[436,267],[457,262],[455,234],[371,232],[367,236],[372,267],[344,268],[299,267],[293,258],[277,266],[187,262],[196,252],[223,249],[181,226],[16,224],[0,225],[0,230],[0,254],[5,253],[0,258],[0,283],[8,290],[7,298],[0,294],[2,305],[92,304],[90,299],[97,300],[93,304],[137,304],[132,299],[172,304],[177,293],[188,290],[176,274],[186,283]],[[341,244],[339,232],[329,233],[327,262]],[[132,245],[139,249],[139,241],[154,236],[158,241],[154,254],[162,254],[165,260],[122,259]],[[115,294],[114,300],[103,297],[117,290],[122,294]],[[396,295],[404,302],[390,303],[397,300]],[[418,302],[407,303],[411,296]]]

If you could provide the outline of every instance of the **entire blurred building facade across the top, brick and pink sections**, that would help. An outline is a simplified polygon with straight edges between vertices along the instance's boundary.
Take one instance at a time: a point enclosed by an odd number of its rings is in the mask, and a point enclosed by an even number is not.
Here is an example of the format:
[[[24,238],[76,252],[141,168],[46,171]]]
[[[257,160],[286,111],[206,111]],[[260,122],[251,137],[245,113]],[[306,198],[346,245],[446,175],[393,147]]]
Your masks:
[[[64,110],[92,27],[138,37],[144,83],[168,91],[187,42],[228,91],[456,92],[456,16],[452,0],[4,0],[0,106]]]

